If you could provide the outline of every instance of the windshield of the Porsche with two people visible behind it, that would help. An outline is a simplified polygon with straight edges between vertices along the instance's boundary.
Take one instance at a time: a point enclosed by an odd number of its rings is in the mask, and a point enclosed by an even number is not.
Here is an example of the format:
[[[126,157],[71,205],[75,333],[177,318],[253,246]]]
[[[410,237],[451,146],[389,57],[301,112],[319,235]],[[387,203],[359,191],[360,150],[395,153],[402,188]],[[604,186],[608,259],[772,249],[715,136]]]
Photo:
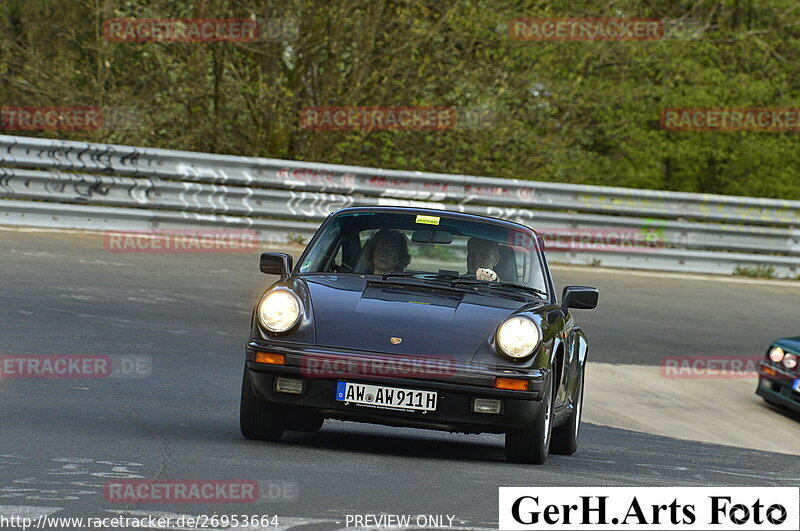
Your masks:
[[[548,293],[532,233],[444,213],[342,213],[326,224],[299,271],[486,282]]]

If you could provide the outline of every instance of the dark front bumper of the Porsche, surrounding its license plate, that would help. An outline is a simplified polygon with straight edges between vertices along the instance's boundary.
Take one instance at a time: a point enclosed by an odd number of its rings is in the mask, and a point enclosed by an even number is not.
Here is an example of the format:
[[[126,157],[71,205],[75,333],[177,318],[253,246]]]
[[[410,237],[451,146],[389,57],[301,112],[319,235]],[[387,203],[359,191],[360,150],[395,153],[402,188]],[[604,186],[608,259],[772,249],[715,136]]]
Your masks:
[[[256,363],[258,351],[283,354],[285,365]],[[369,355],[362,352],[332,352],[317,347],[275,346],[249,343],[247,352],[247,372],[256,394],[271,402],[307,408],[321,413],[326,418],[370,422],[391,426],[407,426],[438,429],[466,433],[504,433],[512,428],[529,425],[542,407],[542,393],[548,371],[528,369],[509,373],[507,370],[475,365],[450,366],[446,377],[411,378],[375,375],[326,374],[313,376],[303,364],[304,357],[329,356],[331,359],[363,360],[388,359],[387,356]],[[409,359],[405,357],[403,359]],[[303,380],[302,394],[291,394],[275,390],[275,378],[284,376]],[[309,377],[312,376],[312,377]],[[495,389],[497,377],[528,380],[528,391]],[[428,412],[408,412],[392,409],[348,404],[336,400],[339,381],[385,385],[415,390],[436,391],[437,408]],[[501,401],[500,413],[475,413],[473,401],[476,398]]]

